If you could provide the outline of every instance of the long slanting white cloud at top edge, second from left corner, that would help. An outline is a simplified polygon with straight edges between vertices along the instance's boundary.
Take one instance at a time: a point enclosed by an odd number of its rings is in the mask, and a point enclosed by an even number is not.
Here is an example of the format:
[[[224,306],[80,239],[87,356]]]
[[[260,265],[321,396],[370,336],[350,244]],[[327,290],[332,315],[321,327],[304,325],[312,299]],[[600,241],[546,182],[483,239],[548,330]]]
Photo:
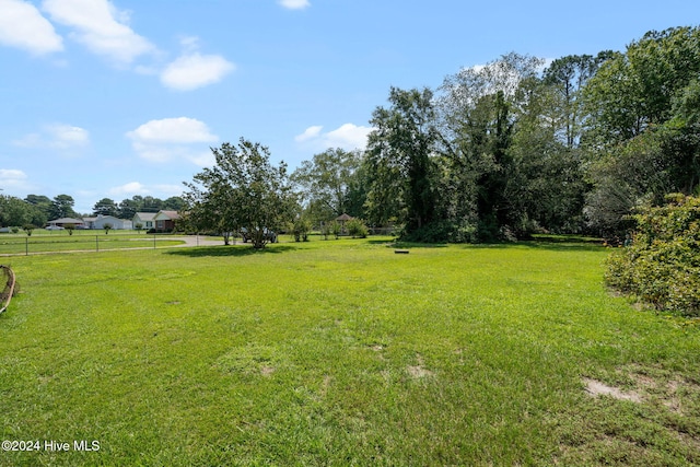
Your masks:
[[[119,65],[155,50],[126,24],[128,13],[118,11],[109,0],[44,0],[42,7],[54,21],[72,27],[75,40]]]

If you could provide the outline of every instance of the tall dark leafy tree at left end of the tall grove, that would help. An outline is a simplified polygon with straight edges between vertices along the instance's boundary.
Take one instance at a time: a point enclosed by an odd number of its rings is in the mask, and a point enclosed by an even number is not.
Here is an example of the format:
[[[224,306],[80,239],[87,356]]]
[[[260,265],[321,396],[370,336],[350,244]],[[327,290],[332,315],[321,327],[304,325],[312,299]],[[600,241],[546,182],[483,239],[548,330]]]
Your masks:
[[[392,87],[392,106],[377,107],[372,114],[375,130],[368,139],[368,205],[376,223],[396,217],[411,232],[433,220],[436,194],[432,156],[439,133],[432,100],[429,89]],[[390,202],[392,198],[399,203]],[[385,209],[387,205],[394,212]]]

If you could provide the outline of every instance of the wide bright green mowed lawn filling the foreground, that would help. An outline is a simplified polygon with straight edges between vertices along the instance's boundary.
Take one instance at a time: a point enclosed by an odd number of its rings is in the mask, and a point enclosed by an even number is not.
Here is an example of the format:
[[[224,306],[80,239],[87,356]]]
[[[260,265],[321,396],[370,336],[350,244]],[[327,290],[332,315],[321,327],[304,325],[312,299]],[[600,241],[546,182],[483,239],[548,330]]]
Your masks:
[[[700,326],[609,250],[385,242],[4,258],[0,465],[700,464]]]

